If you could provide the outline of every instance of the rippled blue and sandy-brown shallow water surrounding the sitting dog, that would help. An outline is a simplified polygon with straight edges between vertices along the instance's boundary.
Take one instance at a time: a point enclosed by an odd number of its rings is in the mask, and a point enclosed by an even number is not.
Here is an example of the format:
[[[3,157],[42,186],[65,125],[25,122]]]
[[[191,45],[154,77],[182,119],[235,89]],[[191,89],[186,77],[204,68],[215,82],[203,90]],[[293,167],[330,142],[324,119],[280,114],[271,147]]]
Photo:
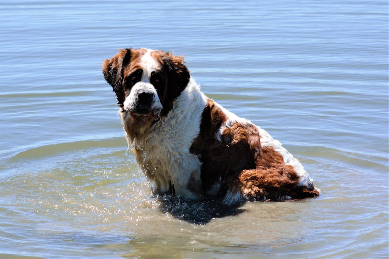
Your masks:
[[[2,1],[1,257],[386,258],[387,7]],[[100,72],[124,47],[185,54],[202,90],[279,139],[322,195],[152,198]]]

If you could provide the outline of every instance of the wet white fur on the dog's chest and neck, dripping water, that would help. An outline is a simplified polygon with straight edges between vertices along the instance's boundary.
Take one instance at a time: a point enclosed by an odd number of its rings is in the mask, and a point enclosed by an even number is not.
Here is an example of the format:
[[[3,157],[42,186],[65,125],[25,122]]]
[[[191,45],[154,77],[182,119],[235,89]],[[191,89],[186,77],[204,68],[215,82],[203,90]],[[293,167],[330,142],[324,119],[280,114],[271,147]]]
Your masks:
[[[134,140],[138,165],[154,191],[167,191],[173,183],[176,194],[202,198],[201,162],[189,149],[200,132],[205,105],[204,94],[191,79],[169,114],[145,138]]]

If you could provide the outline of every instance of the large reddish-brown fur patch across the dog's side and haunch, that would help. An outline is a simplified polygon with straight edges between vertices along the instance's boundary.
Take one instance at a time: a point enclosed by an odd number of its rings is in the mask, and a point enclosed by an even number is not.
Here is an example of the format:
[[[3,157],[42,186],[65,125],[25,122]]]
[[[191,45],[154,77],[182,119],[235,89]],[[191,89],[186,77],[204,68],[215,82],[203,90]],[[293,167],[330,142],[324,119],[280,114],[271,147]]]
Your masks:
[[[241,192],[247,200],[282,201],[318,196],[315,189],[299,186],[300,177],[292,165],[285,165],[273,147],[261,147],[258,128],[250,123],[232,122],[217,140],[228,117],[212,100],[202,115],[200,134],[190,151],[202,165],[203,189],[207,191],[221,179],[233,194]]]

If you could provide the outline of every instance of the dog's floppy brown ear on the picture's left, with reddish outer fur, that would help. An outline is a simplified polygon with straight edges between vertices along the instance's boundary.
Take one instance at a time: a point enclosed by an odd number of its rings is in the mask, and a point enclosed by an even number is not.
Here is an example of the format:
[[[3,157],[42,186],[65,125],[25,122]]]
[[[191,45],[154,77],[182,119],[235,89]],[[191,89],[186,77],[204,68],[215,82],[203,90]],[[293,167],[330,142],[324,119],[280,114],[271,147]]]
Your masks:
[[[112,86],[115,93],[123,88],[123,69],[130,62],[131,49],[119,49],[119,52],[111,59],[103,61],[103,75]]]

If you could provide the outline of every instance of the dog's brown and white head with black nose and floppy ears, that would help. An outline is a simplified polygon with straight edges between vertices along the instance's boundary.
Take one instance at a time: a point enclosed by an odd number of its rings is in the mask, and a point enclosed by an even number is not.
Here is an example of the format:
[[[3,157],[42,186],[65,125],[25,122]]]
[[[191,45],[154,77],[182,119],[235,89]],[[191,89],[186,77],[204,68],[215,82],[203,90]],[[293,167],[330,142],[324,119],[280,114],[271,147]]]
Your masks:
[[[133,118],[166,116],[190,78],[183,57],[150,49],[121,49],[102,71],[121,112]]]

